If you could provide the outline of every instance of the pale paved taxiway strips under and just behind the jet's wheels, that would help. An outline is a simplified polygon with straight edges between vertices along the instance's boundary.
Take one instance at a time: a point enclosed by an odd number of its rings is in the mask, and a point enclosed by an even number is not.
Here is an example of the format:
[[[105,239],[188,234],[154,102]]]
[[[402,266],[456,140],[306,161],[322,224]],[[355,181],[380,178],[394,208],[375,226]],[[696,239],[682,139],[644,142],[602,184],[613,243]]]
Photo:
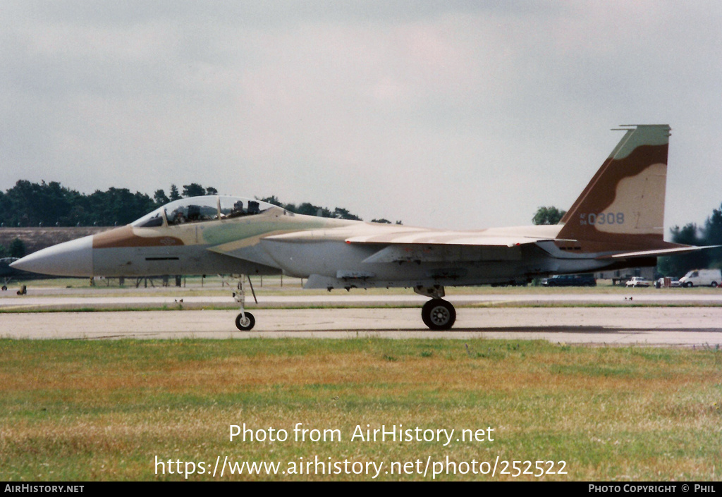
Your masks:
[[[581,295],[581,297],[580,297]],[[670,295],[677,295],[675,298]],[[331,298],[333,297],[333,298]],[[371,297],[371,298],[370,298]],[[722,345],[721,295],[692,293],[653,293],[635,295],[635,303],[667,306],[632,306],[620,295],[458,295],[449,296],[457,306],[457,320],[448,332],[432,332],[421,321],[420,306],[425,298],[417,295],[298,295],[264,297],[280,306],[339,305],[337,298],[352,305],[418,305],[419,308],[249,308],[256,316],[251,332],[235,329],[238,310],[179,311],[97,311],[73,312],[71,308],[90,306],[147,305],[173,297],[58,297],[0,298],[0,308],[32,311],[61,306],[62,312],[22,312],[0,315],[2,337],[30,339],[180,339],[249,337],[382,337],[404,338],[503,338],[549,340],[567,344],[598,345],[675,345],[717,347]],[[199,297],[205,301],[227,297]],[[622,300],[624,299],[624,300]],[[108,300],[112,302],[108,302]],[[192,300],[192,298],[191,298]],[[188,302],[188,298],[184,298]],[[464,307],[490,303],[617,303],[615,307]],[[232,302],[232,301],[231,301]],[[656,302],[656,301],[655,301]],[[659,305],[656,303],[656,305]],[[694,305],[697,305],[695,307]],[[175,304],[178,305],[178,304]]]

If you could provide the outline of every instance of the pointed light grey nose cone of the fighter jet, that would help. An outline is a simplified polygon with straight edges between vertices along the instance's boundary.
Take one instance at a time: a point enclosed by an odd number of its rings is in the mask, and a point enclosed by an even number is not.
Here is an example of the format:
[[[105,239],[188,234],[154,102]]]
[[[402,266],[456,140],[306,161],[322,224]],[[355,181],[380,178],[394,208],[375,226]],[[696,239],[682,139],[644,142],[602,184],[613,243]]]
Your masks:
[[[92,276],[92,235],[43,248],[10,267],[42,275]]]

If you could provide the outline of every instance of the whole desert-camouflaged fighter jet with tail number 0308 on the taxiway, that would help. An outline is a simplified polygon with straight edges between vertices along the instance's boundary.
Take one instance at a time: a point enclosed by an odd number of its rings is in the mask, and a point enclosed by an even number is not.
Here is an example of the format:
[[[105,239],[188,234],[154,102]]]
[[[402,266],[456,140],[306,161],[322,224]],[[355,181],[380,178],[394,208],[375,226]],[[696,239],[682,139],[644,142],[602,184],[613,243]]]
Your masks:
[[[656,265],[700,247],[664,241],[670,127],[625,125],[617,147],[557,225],[454,231],[298,215],[259,200],[196,196],[122,228],[45,248],[12,267],[49,275],[238,277],[236,326],[250,330],[251,276],[306,279],[304,288],[412,288],[422,320],[451,329],[445,287],[531,281]],[[253,287],[251,286],[251,290]]]

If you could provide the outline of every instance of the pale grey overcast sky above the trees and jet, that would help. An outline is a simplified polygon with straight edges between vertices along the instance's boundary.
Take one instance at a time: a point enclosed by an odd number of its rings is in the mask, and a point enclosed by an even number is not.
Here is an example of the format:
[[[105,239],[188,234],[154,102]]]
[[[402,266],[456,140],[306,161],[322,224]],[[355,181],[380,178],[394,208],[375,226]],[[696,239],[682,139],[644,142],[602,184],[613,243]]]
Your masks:
[[[722,202],[719,1],[0,0],[0,67],[3,191],[526,225],[670,124],[667,228]]]

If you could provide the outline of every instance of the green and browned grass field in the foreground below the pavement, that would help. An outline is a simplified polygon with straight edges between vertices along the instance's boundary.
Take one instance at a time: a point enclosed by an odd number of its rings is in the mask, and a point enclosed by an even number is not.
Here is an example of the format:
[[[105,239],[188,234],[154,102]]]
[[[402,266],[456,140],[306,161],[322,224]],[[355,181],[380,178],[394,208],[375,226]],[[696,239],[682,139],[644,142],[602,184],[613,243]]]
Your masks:
[[[209,472],[217,457],[226,456],[279,461],[282,469],[315,456],[322,462],[385,462],[384,471],[391,462],[403,467],[448,456],[457,463],[493,464],[498,456],[565,461],[567,474],[543,477],[552,480],[717,480],[721,402],[722,352],[708,347],[0,340],[0,480],[185,479],[156,474],[156,456],[204,462]],[[286,430],[290,438],[230,441],[230,425],[243,423],[265,433]],[[296,423],[321,433],[338,430],[342,440],[295,441]],[[351,441],[357,425],[453,428],[457,434],[491,427],[494,441]],[[226,472],[188,479],[371,476]],[[430,480],[431,467],[426,477],[382,472],[379,479]],[[469,472],[436,479],[535,478]]]

